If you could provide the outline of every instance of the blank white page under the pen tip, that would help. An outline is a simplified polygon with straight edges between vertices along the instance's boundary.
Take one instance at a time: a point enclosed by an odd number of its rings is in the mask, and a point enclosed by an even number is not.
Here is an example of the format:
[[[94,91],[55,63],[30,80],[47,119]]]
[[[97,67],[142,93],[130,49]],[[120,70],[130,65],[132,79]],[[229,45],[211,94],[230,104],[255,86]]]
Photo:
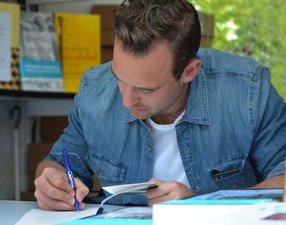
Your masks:
[[[30,210],[15,225],[52,225],[95,215],[97,207],[86,204],[86,209],[77,211]]]

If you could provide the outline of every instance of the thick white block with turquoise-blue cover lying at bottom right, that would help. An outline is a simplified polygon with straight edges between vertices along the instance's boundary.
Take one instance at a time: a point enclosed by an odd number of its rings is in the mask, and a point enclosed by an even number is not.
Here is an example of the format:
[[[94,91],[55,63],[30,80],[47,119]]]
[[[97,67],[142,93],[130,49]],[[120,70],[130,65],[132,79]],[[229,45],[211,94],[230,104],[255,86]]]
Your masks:
[[[283,189],[219,190],[153,206],[153,225],[204,224],[254,204],[280,201]]]

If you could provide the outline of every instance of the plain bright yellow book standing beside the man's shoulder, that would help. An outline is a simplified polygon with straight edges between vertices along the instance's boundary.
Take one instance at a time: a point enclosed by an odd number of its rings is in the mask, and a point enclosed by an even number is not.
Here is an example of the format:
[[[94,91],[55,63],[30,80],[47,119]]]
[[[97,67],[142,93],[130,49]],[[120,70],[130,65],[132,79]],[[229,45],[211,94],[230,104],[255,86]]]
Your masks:
[[[82,74],[100,64],[100,15],[55,13],[64,91],[77,93]]]

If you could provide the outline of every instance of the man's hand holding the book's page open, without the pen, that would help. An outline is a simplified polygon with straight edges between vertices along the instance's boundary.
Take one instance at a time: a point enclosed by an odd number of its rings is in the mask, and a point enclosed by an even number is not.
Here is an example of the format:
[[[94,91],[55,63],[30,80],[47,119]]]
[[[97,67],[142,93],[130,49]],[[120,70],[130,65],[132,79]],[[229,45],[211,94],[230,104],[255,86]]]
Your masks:
[[[146,192],[146,197],[149,199],[148,206],[153,206],[161,201],[169,201],[173,199],[182,199],[196,195],[191,189],[178,181],[160,181],[151,179],[148,182],[155,182],[158,187],[150,188]]]

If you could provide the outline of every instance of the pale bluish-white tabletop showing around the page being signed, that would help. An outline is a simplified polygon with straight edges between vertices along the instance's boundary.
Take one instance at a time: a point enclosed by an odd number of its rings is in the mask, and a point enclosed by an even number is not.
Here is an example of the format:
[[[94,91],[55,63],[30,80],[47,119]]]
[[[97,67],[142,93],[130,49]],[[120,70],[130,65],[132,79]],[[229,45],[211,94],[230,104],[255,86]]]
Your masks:
[[[0,224],[14,225],[33,208],[39,208],[36,201],[0,200]],[[104,212],[111,212],[118,208],[122,208],[122,206],[104,205]]]

